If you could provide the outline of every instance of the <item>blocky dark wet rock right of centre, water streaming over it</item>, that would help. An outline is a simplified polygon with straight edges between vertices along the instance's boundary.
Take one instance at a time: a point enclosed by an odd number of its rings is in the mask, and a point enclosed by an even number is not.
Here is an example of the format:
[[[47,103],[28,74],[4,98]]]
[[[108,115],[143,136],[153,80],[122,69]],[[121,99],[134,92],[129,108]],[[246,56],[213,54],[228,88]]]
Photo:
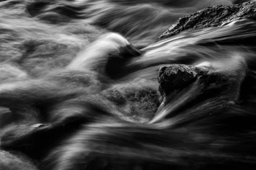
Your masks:
[[[233,74],[234,72],[237,74]],[[246,68],[245,66],[238,67],[230,73],[210,71],[186,65],[164,66],[160,68],[157,77],[159,82],[158,90],[164,97],[165,104],[168,103],[170,97],[184,97],[176,94],[186,89],[191,91],[191,94],[189,92],[186,95],[194,96],[190,101],[192,102],[193,100],[191,105],[196,105],[200,102],[205,102],[205,105],[209,105],[210,102],[207,101],[216,101],[217,104],[226,107],[239,102],[241,82],[243,82],[246,75]],[[196,93],[195,91],[192,92],[193,90],[189,88],[190,85],[194,86],[193,89],[197,89]]]

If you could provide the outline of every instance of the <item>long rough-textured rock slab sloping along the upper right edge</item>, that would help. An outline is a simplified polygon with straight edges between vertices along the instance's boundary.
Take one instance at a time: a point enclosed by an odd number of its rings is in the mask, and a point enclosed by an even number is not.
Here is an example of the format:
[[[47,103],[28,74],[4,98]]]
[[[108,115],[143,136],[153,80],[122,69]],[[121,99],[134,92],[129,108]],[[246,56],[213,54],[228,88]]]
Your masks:
[[[170,37],[180,31],[191,28],[220,26],[226,21],[244,18],[256,19],[256,2],[242,3],[234,6],[212,6],[181,17],[159,39]]]

